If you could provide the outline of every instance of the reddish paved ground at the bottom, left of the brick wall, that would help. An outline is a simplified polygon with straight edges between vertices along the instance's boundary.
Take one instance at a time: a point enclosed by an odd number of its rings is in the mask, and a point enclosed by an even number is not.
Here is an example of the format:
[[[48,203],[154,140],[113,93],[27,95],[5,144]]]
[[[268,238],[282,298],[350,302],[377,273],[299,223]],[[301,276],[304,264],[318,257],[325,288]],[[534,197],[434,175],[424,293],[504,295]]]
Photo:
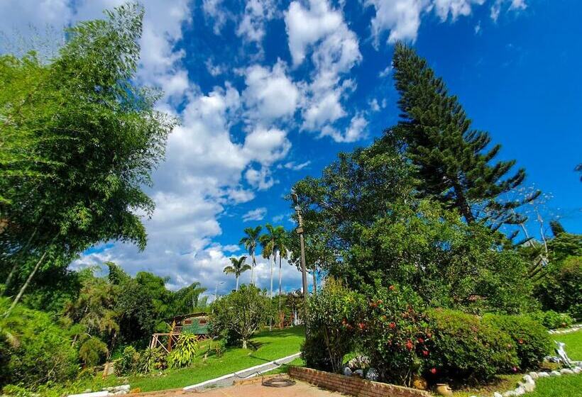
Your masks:
[[[158,391],[150,393],[134,394],[136,397],[339,397],[340,393],[326,391],[301,381],[295,381],[295,385],[286,387],[268,387],[258,383],[242,386],[230,386],[223,388],[207,389],[202,392],[195,391]]]

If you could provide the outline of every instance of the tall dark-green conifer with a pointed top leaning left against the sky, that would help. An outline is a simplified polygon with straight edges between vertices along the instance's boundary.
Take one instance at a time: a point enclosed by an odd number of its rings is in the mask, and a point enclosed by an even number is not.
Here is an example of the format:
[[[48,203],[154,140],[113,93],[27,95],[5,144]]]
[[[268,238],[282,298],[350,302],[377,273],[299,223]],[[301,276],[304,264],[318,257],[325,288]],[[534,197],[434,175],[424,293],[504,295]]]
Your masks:
[[[490,147],[488,133],[471,128],[471,120],[456,96],[412,48],[395,47],[392,61],[407,155],[419,169],[423,194],[457,208],[467,223],[481,220],[492,228],[523,221],[512,209],[532,201],[507,199],[506,193],[522,184],[525,170],[508,177],[515,160],[491,164],[500,145]]]

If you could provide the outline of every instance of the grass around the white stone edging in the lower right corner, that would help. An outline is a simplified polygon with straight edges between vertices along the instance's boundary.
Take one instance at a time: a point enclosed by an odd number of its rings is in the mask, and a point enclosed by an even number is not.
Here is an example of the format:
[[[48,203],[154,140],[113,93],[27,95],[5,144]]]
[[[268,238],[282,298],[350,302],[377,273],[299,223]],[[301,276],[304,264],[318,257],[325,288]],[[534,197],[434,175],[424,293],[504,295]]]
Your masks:
[[[582,331],[550,335],[551,340],[566,343],[566,353],[573,360],[582,360]],[[492,396],[493,392],[505,393],[517,386],[522,375],[501,375],[493,384],[480,388],[455,391],[454,397]],[[566,375],[536,380],[536,389],[526,397],[582,397],[582,374]]]

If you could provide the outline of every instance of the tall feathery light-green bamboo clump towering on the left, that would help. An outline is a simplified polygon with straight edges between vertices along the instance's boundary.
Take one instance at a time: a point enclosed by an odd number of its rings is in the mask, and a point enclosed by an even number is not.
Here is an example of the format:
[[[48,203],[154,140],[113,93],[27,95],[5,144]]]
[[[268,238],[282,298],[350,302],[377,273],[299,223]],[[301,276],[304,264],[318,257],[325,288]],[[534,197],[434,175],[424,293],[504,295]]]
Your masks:
[[[146,245],[138,214],[154,203],[143,186],[177,120],[136,84],[142,20],[127,4],[70,28],[48,64],[0,57],[0,146],[9,137],[16,150],[0,156],[0,262],[15,303],[39,268],[67,266],[97,242]]]

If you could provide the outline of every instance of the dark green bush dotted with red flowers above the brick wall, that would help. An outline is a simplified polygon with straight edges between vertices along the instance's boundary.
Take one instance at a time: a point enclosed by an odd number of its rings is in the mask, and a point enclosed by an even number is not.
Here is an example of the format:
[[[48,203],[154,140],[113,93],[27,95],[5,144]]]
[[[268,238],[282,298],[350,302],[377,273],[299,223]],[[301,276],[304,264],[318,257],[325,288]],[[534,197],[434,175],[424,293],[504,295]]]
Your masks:
[[[378,369],[380,378],[410,385],[431,354],[431,338],[422,300],[410,287],[377,288],[358,323],[361,350]]]

